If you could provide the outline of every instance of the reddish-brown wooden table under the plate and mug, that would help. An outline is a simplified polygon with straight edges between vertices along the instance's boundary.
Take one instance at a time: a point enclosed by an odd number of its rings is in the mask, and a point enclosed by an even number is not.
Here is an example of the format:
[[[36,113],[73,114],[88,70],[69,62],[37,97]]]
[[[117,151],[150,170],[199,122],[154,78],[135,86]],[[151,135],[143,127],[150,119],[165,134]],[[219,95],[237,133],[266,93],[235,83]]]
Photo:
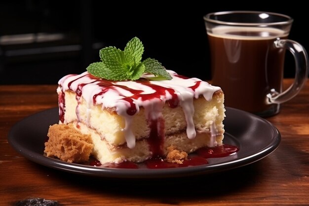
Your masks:
[[[285,86],[292,80],[284,80]],[[268,118],[281,133],[266,158],[225,172],[170,179],[113,179],[68,173],[28,161],[8,144],[12,125],[57,107],[56,85],[0,86],[0,205],[29,198],[61,206],[308,206],[309,81]]]

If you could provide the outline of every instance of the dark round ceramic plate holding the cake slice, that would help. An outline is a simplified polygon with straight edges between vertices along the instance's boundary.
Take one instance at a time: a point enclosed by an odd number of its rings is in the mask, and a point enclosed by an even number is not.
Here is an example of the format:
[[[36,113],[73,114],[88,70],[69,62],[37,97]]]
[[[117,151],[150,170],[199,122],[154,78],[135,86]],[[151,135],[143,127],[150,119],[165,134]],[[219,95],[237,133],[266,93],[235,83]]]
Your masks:
[[[207,159],[209,164],[178,168],[108,168],[79,165],[43,155],[48,127],[59,121],[58,108],[45,110],[15,124],[8,135],[10,145],[27,159],[54,169],[78,174],[119,177],[179,177],[224,171],[254,163],[268,156],[280,143],[279,131],[268,121],[250,113],[226,108],[224,144],[235,145],[239,151],[224,158]]]

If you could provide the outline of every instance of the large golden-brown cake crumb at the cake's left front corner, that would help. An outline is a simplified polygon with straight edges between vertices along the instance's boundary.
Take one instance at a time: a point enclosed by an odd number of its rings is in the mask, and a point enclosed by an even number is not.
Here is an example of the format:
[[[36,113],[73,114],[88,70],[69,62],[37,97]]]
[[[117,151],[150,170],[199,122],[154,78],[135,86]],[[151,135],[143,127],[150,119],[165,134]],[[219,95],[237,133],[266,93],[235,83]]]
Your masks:
[[[90,135],[82,134],[73,124],[53,124],[49,126],[48,141],[44,153],[47,157],[57,157],[68,163],[82,163],[89,160],[93,149]]]

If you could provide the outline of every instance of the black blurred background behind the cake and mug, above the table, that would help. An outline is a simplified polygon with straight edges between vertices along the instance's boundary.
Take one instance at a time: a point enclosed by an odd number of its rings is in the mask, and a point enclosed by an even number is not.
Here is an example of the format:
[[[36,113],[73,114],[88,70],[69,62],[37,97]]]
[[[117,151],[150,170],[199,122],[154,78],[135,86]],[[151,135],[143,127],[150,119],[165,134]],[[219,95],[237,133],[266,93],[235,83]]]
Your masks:
[[[300,12],[305,5],[258,2],[2,0],[0,84],[55,84],[99,61],[99,49],[123,50],[133,37],[144,44],[143,59],[155,58],[179,74],[210,80],[203,16],[215,11],[259,10],[292,16],[289,39],[309,49],[303,27],[309,18]],[[289,54],[284,77],[294,77]]]

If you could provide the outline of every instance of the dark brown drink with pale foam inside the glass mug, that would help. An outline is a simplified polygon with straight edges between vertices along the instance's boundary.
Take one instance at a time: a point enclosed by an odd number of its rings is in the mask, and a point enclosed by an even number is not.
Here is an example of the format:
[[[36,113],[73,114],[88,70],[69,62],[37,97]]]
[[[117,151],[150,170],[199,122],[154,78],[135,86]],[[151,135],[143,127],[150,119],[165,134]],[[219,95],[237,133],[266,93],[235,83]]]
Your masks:
[[[261,115],[278,105],[267,104],[274,88],[281,92],[284,49],[276,48],[283,31],[219,27],[208,33],[212,84],[225,93],[225,105]]]

